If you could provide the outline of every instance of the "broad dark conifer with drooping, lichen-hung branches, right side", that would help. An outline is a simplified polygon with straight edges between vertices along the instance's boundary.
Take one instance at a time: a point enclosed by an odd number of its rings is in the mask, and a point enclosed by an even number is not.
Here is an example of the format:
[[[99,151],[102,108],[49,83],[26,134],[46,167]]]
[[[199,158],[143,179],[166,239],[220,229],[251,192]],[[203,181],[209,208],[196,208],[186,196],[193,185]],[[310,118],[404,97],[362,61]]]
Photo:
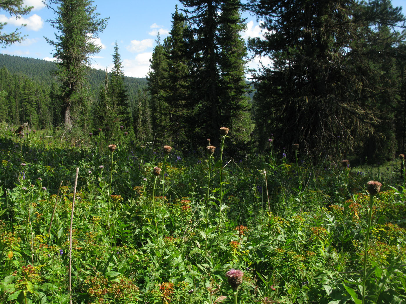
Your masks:
[[[400,11],[386,0],[373,1],[386,2],[382,10],[352,0],[249,2],[265,30],[249,47],[273,62],[253,75],[260,138],[274,133],[280,147],[300,143],[317,156],[338,147],[346,154],[376,136],[389,82],[372,55],[399,39],[374,38],[380,25],[396,31]]]

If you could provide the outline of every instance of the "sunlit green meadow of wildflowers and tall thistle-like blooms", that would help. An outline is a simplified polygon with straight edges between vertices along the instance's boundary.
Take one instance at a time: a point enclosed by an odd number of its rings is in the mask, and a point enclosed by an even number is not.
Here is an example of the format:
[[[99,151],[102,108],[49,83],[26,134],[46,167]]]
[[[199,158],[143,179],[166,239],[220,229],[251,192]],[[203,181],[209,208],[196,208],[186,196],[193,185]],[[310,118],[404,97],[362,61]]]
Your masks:
[[[277,136],[234,159],[221,132],[181,154],[2,124],[0,302],[406,302],[404,159],[315,165]]]

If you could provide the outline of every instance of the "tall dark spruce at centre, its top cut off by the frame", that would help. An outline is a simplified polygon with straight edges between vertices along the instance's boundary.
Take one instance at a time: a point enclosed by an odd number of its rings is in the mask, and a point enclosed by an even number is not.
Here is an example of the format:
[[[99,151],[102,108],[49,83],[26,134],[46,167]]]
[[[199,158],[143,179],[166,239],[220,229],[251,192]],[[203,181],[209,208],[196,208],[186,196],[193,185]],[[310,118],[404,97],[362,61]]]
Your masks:
[[[238,34],[243,28],[238,13],[241,4],[234,0],[180,2],[191,25],[186,52],[191,63],[188,101],[193,109],[189,130],[195,144],[210,137],[216,146],[219,128],[231,127],[232,117],[246,110],[247,86],[239,74],[245,65],[245,47]]]

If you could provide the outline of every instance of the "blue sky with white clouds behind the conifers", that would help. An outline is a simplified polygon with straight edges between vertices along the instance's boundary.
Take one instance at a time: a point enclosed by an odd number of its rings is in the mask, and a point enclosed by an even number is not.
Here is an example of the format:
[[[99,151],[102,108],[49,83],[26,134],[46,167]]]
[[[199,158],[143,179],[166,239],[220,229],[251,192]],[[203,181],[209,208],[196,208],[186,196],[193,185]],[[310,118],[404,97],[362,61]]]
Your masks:
[[[24,4],[34,8],[21,19],[0,10],[0,22],[8,23],[4,26],[3,33],[12,32],[21,24],[27,24],[20,30],[22,35],[27,35],[26,39],[22,43],[0,48],[0,53],[52,61],[54,48],[44,37],[54,39],[55,29],[47,20],[56,16],[41,0],[24,0]],[[180,10],[183,8],[176,0],[95,0],[93,5],[97,6],[99,17],[110,19],[97,39],[102,49],[92,58],[92,67],[111,70],[114,43],[117,41],[124,74],[145,77],[149,71],[149,58],[156,45],[157,34],[160,33],[161,39],[168,36],[176,4]],[[403,13],[406,15],[406,0],[392,0],[392,5],[403,6]],[[255,16],[244,14],[243,17],[247,18],[247,29],[241,33],[242,37],[246,40],[248,37],[261,36]],[[262,64],[269,63],[268,58],[254,58],[248,62],[248,68],[256,69],[259,60]]]

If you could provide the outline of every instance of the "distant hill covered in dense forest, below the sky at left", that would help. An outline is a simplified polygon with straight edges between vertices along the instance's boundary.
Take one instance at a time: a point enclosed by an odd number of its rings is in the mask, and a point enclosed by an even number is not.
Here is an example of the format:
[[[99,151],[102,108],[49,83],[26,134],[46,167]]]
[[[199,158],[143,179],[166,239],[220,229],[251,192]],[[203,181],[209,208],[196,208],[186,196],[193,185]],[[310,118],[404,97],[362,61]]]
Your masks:
[[[26,75],[32,81],[47,84],[51,86],[56,80],[52,76],[52,71],[56,70],[54,62],[42,59],[24,58],[0,54],[0,68],[5,66],[12,74]],[[91,69],[89,73],[89,84],[93,96],[97,96],[100,85],[105,79],[106,72],[103,70]],[[124,77],[124,83],[127,86],[130,100],[136,96],[138,89],[145,87],[147,80],[145,78]]]

